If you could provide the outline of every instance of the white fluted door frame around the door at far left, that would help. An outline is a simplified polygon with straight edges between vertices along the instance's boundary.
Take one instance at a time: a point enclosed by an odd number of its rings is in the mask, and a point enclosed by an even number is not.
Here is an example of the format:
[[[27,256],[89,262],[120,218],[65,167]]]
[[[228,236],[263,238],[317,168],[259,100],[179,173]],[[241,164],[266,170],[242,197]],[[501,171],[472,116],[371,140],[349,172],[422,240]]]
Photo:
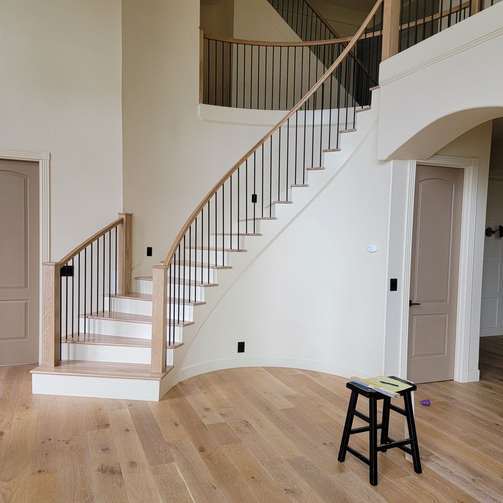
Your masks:
[[[40,262],[50,262],[50,163],[49,152],[31,152],[29,150],[8,150],[0,148],[0,159],[25,160],[38,162],[39,176],[39,215],[40,215]],[[42,361],[42,267],[39,278],[39,362]]]

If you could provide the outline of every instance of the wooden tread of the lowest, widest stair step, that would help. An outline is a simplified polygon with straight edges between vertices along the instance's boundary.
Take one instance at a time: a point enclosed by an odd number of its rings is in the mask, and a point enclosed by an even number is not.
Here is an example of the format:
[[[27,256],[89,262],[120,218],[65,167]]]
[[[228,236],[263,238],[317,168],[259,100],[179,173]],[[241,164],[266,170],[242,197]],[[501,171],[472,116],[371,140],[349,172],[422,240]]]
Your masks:
[[[160,381],[173,366],[167,367],[166,372],[150,372],[150,365],[144,363],[112,363],[90,362],[83,360],[63,360],[58,367],[44,367],[40,365],[30,371],[32,374],[52,374],[81,377],[115,377],[119,379],[148,379]]]

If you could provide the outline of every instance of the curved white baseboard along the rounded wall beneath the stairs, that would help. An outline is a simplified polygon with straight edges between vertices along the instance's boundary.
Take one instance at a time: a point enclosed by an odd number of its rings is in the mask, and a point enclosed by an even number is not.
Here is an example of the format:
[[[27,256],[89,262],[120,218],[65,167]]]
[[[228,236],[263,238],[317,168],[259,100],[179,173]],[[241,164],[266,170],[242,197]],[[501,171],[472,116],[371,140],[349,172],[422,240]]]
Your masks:
[[[181,369],[180,379],[188,379],[207,372],[215,370],[232,369],[238,367],[287,367],[294,369],[313,370],[315,372],[324,372],[326,374],[337,375],[341,377],[351,377],[358,375],[360,377],[371,377],[367,372],[358,369],[350,369],[342,365],[334,365],[314,360],[304,360],[299,358],[286,358],[281,356],[265,357],[236,357],[223,360],[212,360],[202,362]]]

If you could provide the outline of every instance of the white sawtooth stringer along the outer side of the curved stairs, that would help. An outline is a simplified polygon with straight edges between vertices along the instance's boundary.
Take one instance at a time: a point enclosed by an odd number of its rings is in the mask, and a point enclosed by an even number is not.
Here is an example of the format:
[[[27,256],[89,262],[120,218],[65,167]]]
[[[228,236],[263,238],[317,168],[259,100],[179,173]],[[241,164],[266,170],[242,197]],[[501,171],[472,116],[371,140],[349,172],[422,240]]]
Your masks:
[[[276,240],[276,238],[330,185],[344,170],[358,150],[364,145],[372,132],[377,128],[379,109],[379,90],[372,92],[372,109],[358,114],[357,130],[346,133],[341,138],[341,150],[324,153],[324,164],[327,169],[309,174],[309,187],[292,188],[293,204],[275,205],[277,220],[262,221],[262,236],[246,237],[246,253],[235,254],[232,268],[218,272],[218,287],[205,292],[206,304],[198,306],[194,312],[194,325],[184,327],[184,345],[177,348],[174,354],[174,369],[165,379],[166,389],[175,386],[181,380],[216,369],[196,370],[183,369],[183,362],[191,345],[198,337],[205,322],[210,318],[221,299],[232,288],[259,256]],[[215,340],[218,344],[218,339]],[[361,372],[365,374],[365,372]]]

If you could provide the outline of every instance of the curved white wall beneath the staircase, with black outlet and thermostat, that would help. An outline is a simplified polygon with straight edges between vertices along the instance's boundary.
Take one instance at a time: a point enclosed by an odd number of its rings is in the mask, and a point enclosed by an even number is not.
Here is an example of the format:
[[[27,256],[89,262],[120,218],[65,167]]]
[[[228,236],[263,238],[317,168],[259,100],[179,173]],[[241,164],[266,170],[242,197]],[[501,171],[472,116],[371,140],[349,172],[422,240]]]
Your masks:
[[[182,375],[264,364],[343,376],[382,371],[390,167],[375,160],[376,143],[374,127],[337,178],[228,287]],[[378,253],[368,253],[370,242]]]

